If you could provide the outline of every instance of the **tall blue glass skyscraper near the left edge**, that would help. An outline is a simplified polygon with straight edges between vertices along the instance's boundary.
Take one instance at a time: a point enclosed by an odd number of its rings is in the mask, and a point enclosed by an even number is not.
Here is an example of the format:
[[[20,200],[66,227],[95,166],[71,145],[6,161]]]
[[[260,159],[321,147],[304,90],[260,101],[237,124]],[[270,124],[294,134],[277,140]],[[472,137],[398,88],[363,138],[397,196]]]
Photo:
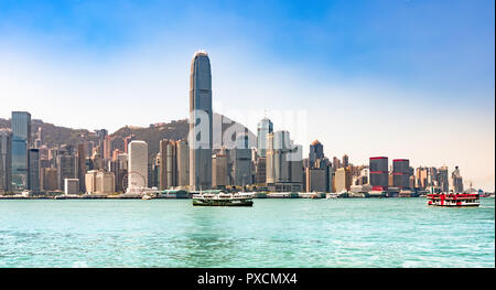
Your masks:
[[[12,111],[12,183],[17,191],[28,189],[28,149],[31,144],[31,114]]]

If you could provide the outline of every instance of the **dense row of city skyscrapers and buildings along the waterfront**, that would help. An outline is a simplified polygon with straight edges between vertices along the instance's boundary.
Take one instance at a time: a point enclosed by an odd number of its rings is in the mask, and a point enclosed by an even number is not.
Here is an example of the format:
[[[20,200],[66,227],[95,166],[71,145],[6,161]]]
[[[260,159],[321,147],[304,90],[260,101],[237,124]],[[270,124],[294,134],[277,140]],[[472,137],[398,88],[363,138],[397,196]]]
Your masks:
[[[463,192],[456,167],[410,167],[408,159],[370,157],[354,165],[348,155],[324,155],[323,144],[310,144],[308,158],[285,130],[273,130],[269,118],[257,125],[256,147],[247,131],[228,146],[214,148],[211,62],[197,52],[191,64],[190,135],[187,140],[161,140],[150,158],[149,144],[133,135],[112,138],[106,129],[80,137],[76,146],[47,147],[43,130],[32,133],[31,115],[13,111],[10,129],[0,129],[0,194],[112,194],[185,189],[269,192],[388,192],[390,195],[435,190]],[[91,139],[91,140],[89,140]]]

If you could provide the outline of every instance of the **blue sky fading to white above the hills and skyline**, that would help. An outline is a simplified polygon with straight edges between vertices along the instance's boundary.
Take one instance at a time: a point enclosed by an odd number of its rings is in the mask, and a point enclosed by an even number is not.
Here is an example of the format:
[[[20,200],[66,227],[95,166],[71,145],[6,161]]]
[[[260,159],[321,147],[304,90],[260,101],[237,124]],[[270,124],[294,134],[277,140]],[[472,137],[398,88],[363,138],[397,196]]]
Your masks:
[[[494,187],[494,1],[247,2],[0,0],[0,117],[110,130],[184,118],[203,49],[219,112],[302,109],[304,148],[457,162]]]

